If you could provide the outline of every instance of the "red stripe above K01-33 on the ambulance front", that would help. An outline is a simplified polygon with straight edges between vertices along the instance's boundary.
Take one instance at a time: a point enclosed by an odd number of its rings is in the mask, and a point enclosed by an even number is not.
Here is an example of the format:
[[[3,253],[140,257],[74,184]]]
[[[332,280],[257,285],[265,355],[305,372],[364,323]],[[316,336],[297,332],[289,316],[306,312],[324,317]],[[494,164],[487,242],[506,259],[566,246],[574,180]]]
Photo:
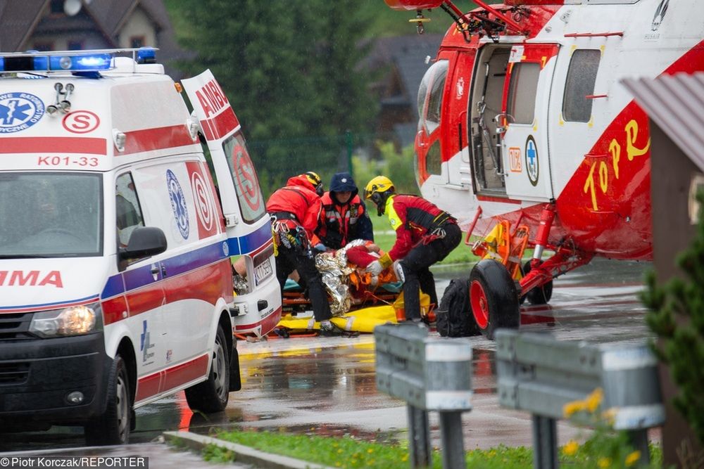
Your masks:
[[[3,137],[0,153],[107,155],[108,141],[92,137]]]

